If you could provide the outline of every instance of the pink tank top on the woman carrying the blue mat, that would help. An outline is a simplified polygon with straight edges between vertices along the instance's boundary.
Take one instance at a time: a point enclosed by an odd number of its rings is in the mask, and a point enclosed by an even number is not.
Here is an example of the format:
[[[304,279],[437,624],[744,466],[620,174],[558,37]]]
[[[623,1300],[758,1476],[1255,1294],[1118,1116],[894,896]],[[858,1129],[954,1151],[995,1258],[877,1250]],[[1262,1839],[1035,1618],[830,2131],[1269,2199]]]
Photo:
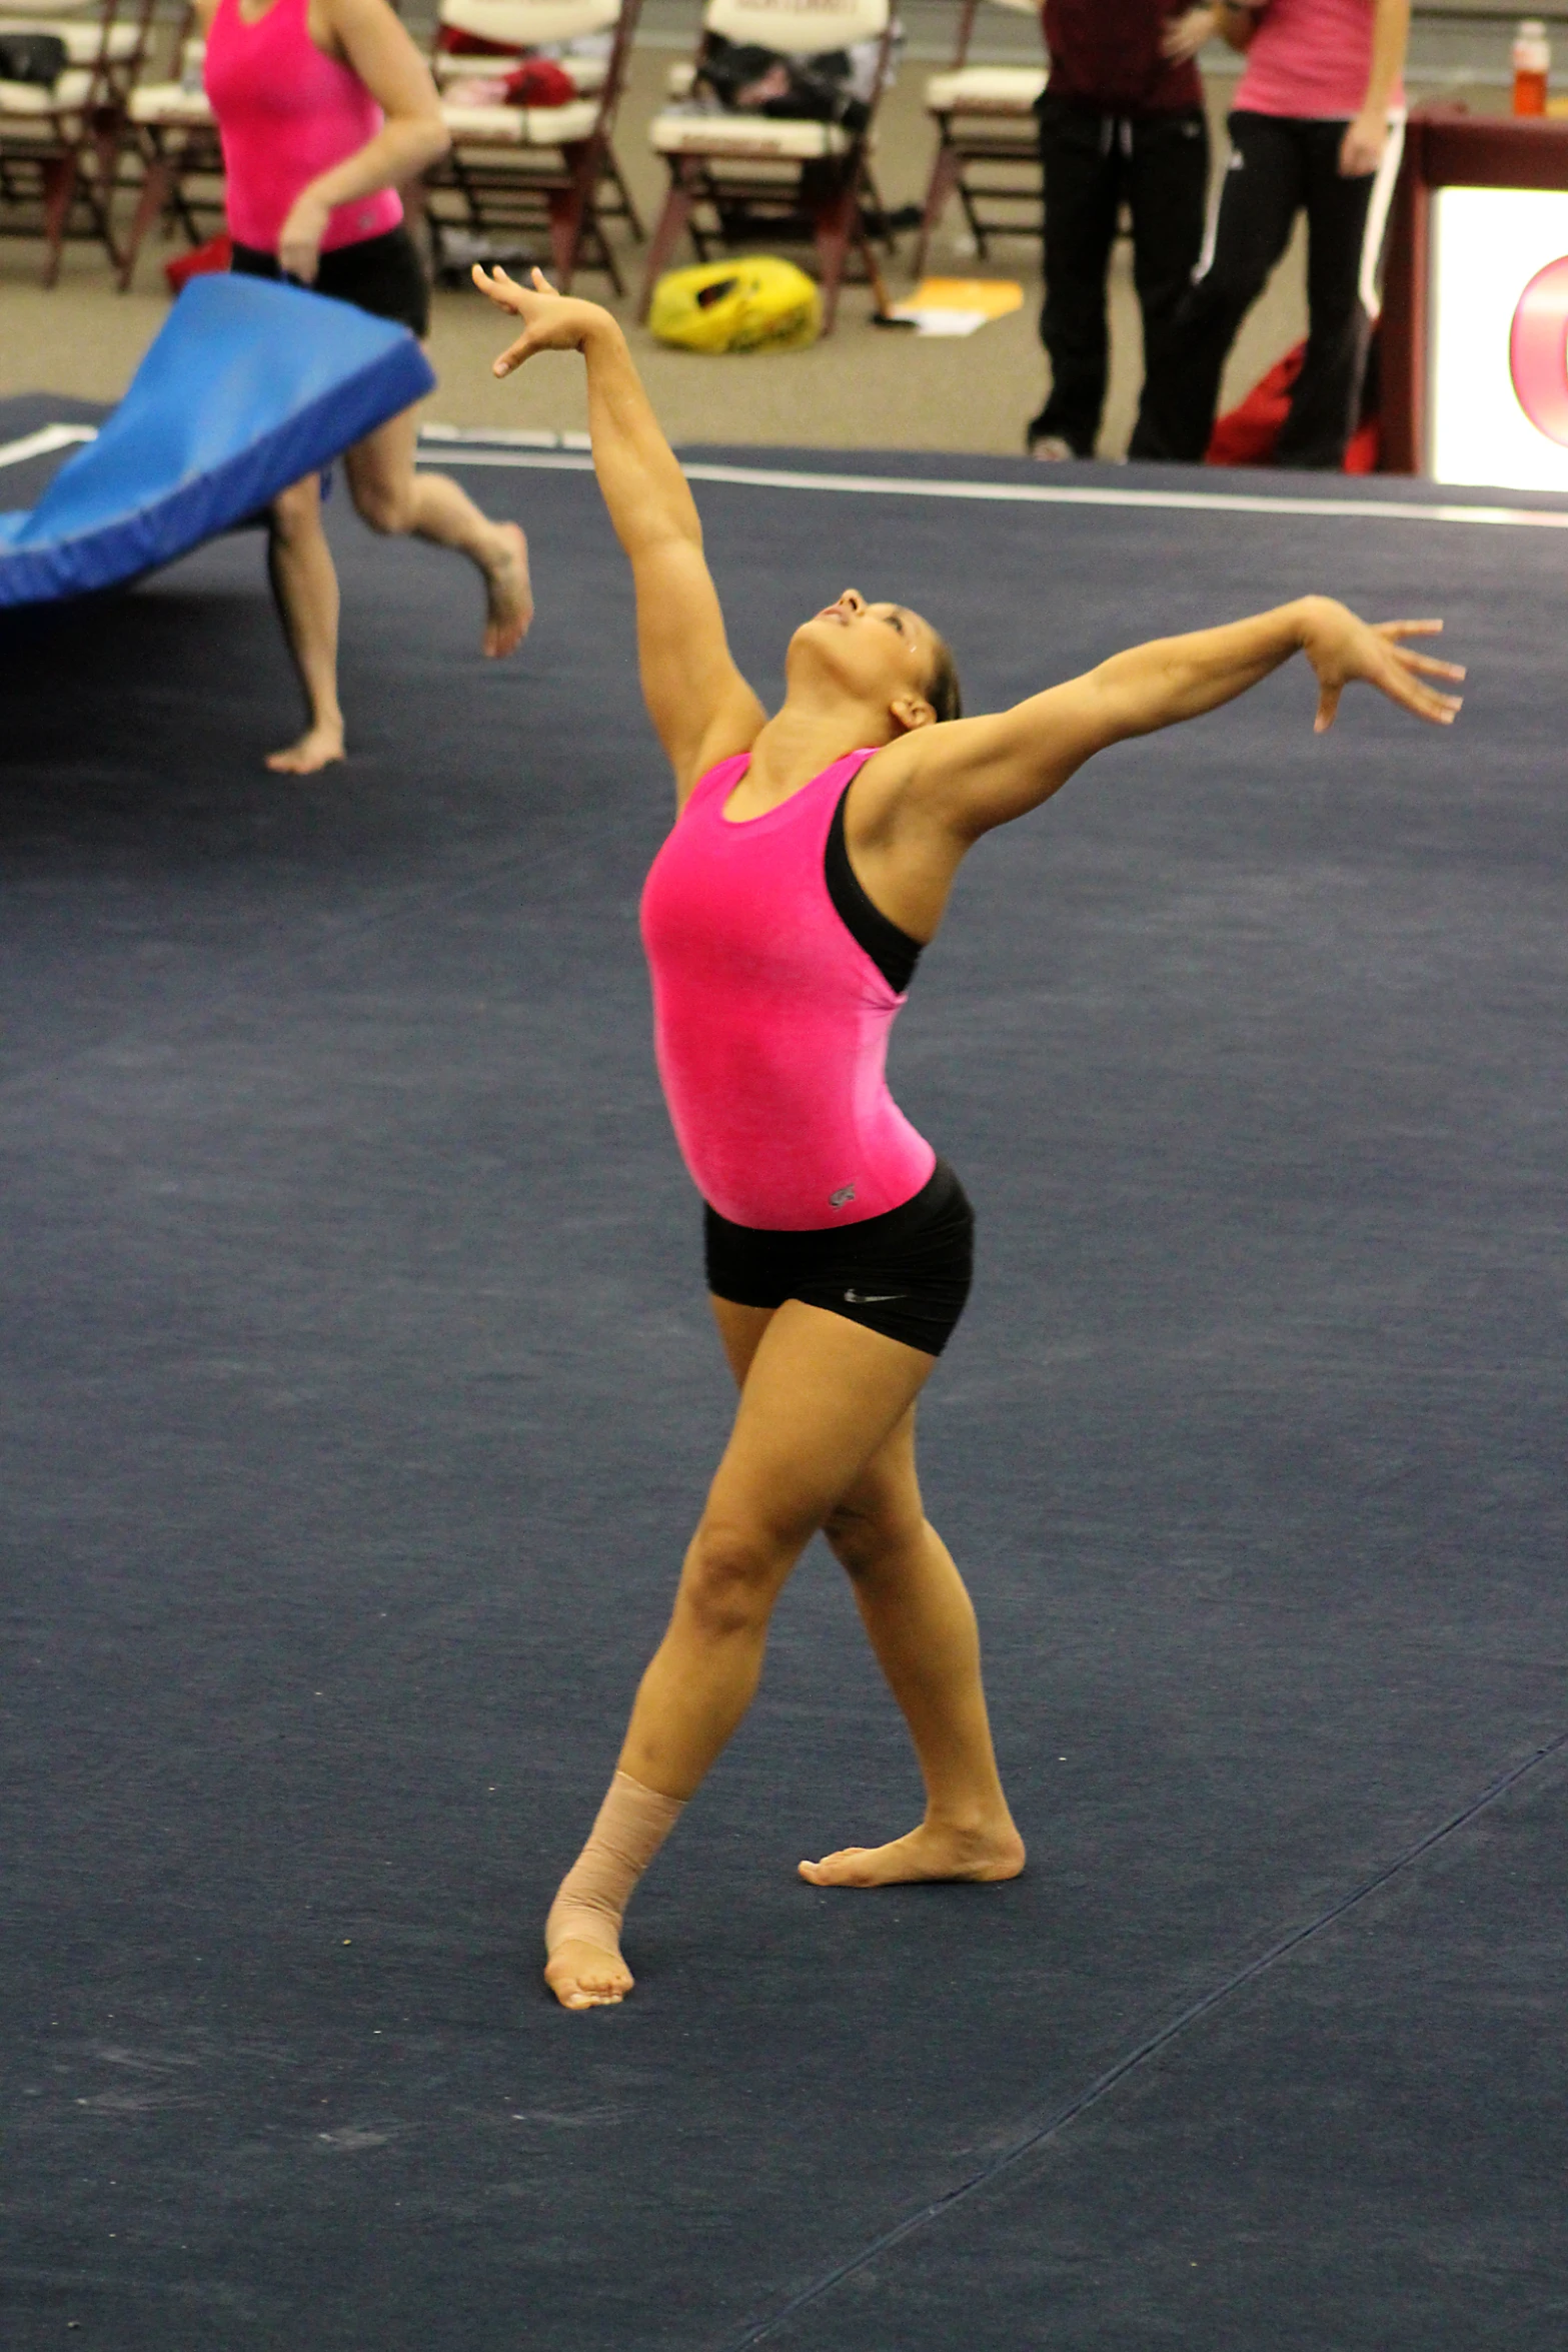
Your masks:
[[[219,118],[228,176],[228,233],[237,245],[277,252],[294,198],[355,155],[386,115],[336,56],[310,40],[310,0],[273,0],[247,24],[237,0],[219,0],[207,33],[207,96]],[[402,221],[395,188],[336,205],[322,252],[383,238]]]

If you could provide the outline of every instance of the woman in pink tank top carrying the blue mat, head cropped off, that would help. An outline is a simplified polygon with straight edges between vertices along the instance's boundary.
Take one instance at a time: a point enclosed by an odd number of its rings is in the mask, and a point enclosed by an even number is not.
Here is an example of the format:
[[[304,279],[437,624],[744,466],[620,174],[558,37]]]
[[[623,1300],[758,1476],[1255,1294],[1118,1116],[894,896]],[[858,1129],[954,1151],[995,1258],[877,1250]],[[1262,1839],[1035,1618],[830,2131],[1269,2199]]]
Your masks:
[[[207,96],[223,136],[233,268],[296,278],[421,339],[430,296],[397,183],[447,148],[435,82],[388,0],[205,0]],[[534,614],[529,550],[444,475],[416,473],[416,412],[343,454],[374,532],[418,532],[484,574],[484,652],[510,654]],[[308,727],[268,767],[303,776],[343,757],[339,581],[320,477],[273,501],[268,564]]]

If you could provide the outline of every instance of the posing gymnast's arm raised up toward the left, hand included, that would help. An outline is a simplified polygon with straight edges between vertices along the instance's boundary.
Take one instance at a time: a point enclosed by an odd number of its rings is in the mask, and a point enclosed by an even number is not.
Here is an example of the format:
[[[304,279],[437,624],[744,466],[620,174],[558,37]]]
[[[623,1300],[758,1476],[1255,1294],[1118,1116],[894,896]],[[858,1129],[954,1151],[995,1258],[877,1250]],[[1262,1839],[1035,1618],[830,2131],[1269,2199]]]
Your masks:
[[[766,717],[724,637],[686,475],[609,310],[555,294],[538,270],[534,285],[522,287],[505,270],[475,268],[475,285],[524,325],[496,360],[498,376],[510,376],[536,350],[583,353],[592,461],[637,588],[642,694],[684,802],[715,760],[750,750]]]

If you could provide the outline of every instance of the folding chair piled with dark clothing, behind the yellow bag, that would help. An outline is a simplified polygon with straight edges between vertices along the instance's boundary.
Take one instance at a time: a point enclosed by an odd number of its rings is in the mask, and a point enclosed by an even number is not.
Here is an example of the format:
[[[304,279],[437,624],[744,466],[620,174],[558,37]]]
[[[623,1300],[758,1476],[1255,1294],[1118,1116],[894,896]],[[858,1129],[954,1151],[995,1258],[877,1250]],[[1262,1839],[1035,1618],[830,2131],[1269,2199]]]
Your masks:
[[[691,235],[698,259],[757,242],[811,242],[823,280],[823,334],[832,332],[851,247],[865,259],[867,155],[893,47],[889,0],[708,0],[703,33],[778,56],[823,56],[877,45],[867,118],[858,129],[792,115],[712,113],[696,101],[665,106],[649,125],[670,167],[649,242],[642,315],[654,285]],[[696,66],[684,75],[691,89]]]

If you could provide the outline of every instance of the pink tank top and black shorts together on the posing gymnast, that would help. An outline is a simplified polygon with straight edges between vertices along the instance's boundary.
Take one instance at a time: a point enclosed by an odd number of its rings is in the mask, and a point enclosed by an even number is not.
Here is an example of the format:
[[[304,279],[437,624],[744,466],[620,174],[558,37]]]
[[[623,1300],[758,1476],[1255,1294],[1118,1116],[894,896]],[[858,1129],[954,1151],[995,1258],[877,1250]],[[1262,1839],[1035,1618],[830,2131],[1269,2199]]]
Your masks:
[[[964,1190],[886,1087],[919,946],[865,896],[849,753],[752,818],[748,753],[691,793],[642,894],[658,1075],[708,1209],[710,1289],[804,1298],[938,1355],[969,1291]]]

